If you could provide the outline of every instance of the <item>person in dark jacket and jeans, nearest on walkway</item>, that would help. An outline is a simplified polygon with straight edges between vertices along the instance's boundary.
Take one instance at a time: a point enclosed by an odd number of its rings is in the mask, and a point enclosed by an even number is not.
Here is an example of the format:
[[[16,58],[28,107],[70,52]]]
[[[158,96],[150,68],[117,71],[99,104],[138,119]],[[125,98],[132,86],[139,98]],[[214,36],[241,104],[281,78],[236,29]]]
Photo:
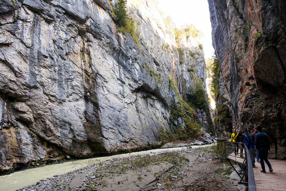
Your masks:
[[[260,172],[266,173],[264,161],[266,162],[267,166],[269,167],[269,172],[273,172],[270,162],[268,161],[268,150],[270,150],[269,138],[266,133],[262,132],[262,127],[257,127],[258,133],[255,135],[255,144],[256,149],[259,153],[260,157],[260,164],[262,170]]]

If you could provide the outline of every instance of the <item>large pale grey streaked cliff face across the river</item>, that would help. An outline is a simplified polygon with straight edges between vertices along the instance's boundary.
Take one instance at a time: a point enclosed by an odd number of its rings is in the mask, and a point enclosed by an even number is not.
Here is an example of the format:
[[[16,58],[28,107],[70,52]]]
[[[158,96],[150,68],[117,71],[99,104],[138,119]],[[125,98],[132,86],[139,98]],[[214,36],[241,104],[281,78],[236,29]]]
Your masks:
[[[141,23],[139,46],[117,31],[110,7],[108,0],[0,2],[0,170],[160,145],[160,134],[173,131],[169,79],[186,95],[192,64],[206,86],[202,50],[180,63],[152,0],[128,2]],[[195,118],[211,129],[208,110]]]

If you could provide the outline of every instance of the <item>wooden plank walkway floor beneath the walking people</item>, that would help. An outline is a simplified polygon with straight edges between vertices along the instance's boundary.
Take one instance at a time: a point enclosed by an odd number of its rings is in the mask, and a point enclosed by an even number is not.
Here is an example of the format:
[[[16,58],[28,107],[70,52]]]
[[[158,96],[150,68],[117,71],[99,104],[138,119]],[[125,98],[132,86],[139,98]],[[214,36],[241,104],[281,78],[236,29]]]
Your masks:
[[[235,156],[234,152],[227,158],[234,160],[239,163],[243,163],[244,158],[240,158],[239,155]],[[245,157],[243,153],[243,157]],[[274,160],[269,159],[269,162],[273,168],[273,173],[269,173],[269,168],[265,164],[266,174],[260,172],[261,165],[260,162],[256,162],[255,158],[255,168],[253,168],[254,179],[257,191],[286,191],[286,160]]]

